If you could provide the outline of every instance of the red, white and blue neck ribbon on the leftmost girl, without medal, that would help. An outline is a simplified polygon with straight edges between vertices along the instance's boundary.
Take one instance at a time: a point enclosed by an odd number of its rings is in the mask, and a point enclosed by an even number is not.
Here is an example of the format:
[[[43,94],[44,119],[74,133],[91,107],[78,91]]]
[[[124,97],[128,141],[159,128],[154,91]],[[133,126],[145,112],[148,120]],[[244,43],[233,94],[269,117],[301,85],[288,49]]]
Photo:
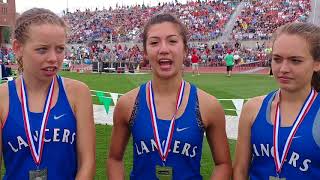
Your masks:
[[[36,150],[35,142],[32,138],[31,128],[30,128],[30,118],[29,118],[29,106],[28,106],[28,96],[26,87],[24,84],[23,77],[21,76],[21,106],[22,106],[22,115],[24,121],[24,129],[27,135],[28,145],[30,147],[31,155],[34,162],[39,166],[41,162],[44,138],[45,138],[45,130],[48,122],[48,117],[50,113],[50,107],[52,102],[52,96],[54,92],[54,83],[55,78],[52,79],[50,89],[48,91],[45,106],[43,108],[43,118],[41,121],[41,129],[38,137],[38,149]]]

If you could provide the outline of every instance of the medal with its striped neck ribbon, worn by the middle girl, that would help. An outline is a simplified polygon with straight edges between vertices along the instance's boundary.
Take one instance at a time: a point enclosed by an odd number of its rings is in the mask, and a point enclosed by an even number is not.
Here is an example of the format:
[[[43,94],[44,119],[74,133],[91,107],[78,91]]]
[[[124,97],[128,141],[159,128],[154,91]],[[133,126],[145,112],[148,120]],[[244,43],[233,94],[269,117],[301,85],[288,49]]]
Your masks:
[[[158,131],[158,126],[157,126],[157,112],[156,112],[156,106],[154,104],[154,96],[153,96],[153,90],[152,90],[152,82],[150,81],[148,84],[148,101],[149,101],[149,106],[150,106],[150,117],[151,117],[151,122],[152,122],[152,129],[153,129],[153,135],[154,139],[157,145],[157,149],[159,152],[159,155],[161,157],[161,160],[163,162],[163,166],[156,166],[156,176],[159,179],[172,179],[172,174],[173,174],[173,169],[172,167],[164,166],[168,154],[169,154],[169,149],[170,149],[170,144],[173,136],[173,131],[174,131],[174,124],[175,124],[175,118],[176,114],[178,112],[178,109],[181,105],[182,99],[183,99],[183,94],[184,94],[184,88],[185,88],[185,81],[182,80],[179,91],[178,91],[178,97],[177,97],[177,102],[176,102],[176,111],[173,114],[173,117],[170,122],[170,127],[166,139],[166,143],[164,146],[164,149],[162,149],[161,143],[160,143],[160,137],[159,137],[159,131]]]

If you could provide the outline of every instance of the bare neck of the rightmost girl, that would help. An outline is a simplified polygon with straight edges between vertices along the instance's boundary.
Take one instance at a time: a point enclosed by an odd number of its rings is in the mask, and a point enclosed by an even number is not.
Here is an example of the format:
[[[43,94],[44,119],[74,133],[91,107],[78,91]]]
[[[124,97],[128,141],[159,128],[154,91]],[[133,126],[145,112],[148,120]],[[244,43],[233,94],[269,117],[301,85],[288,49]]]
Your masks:
[[[304,88],[295,92],[285,91],[281,89],[281,101],[290,103],[303,103],[307,99],[310,91],[311,87]]]

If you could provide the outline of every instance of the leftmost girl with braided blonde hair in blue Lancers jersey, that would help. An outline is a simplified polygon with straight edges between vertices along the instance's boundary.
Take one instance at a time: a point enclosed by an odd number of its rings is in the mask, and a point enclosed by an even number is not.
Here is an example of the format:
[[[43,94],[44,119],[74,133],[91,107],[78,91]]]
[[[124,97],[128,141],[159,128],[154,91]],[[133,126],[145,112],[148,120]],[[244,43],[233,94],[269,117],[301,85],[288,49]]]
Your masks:
[[[3,179],[93,179],[95,128],[88,87],[57,76],[66,24],[33,8],[19,16],[13,49],[21,76],[0,86]]]

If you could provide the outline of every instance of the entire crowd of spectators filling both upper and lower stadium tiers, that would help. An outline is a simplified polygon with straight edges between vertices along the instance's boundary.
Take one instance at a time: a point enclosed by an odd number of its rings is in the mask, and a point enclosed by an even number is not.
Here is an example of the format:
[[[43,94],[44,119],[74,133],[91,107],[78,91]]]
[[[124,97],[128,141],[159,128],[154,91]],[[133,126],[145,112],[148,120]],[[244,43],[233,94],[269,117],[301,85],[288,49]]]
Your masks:
[[[261,0],[245,2],[237,17],[232,42],[215,42],[221,35],[237,4],[236,1],[204,0],[185,4],[163,3],[149,7],[135,5],[115,9],[68,12],[64,19],[69,23],[69,43],[66,59],[73,64],[108,62],[111,64],[145,63],[141,48],[141,31],[144,23],[159,12],[174,13],[186,24],[189,31],[189,56],[199,57],[200,66],[223,66],[226,52],[231,51],[236,64],[261,62],[267,65],[266,42],[273,31],[292,21],[306,21],[310,13],[310,0]],[[137,18],[139,17],[139,18]],[[259,40],[255,47],[241,45],[242,40]],[[10,59],[0,54],[0,59]],[[2,58],[3,57],[3,58]],[[5,58],[7,57],[7,58]],[[110,64],[110,65],[111,65]],[[112,66],[112,65],[111,65]]]

